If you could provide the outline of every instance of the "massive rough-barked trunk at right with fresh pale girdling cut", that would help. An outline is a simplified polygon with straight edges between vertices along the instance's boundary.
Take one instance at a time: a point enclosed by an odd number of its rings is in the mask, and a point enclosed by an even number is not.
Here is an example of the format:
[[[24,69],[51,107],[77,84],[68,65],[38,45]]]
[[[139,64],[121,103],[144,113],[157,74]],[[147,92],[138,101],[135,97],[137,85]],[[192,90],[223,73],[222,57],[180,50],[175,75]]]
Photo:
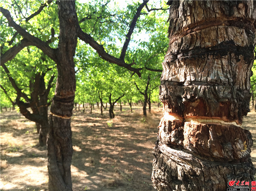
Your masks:
[[[154,187],[224,191],[229,180],[252,181],[252,136],[241,124],[250,111],[256,2],[168,3]]]

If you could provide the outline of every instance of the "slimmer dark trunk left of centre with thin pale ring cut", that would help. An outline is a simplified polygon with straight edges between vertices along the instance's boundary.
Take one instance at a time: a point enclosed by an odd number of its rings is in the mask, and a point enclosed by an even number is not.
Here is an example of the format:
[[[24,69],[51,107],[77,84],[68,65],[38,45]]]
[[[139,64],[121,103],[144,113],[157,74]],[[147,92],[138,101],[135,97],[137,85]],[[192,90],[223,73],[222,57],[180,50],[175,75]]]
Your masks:
[[[60,35],[56,52],[58,79],[51,107],[47,141],[49,191],[71,191],[72,132],[70,120],[75,96],[73,57],[77,43],[78,20],[74,1],[57,1]]]

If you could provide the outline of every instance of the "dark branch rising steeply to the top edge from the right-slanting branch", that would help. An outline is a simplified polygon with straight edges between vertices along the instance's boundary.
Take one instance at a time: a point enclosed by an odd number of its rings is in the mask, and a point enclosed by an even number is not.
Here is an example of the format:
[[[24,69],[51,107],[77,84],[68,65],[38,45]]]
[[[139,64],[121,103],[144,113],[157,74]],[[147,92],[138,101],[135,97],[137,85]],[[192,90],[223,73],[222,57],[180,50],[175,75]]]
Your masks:
[[[126,50],[128,48],[129,42],[131,40],[131,35],[132,35],[133,30],[135,28],[136,22],[137,22],[138,18],[140,17],[140,12],[143,9],[143,7],[148,3],[148,1],[149,0],[143,1],[143,3],[138,7],[135,16],[133,17],[133,20],[131,22],[129,31],[128,31],[128,33],[125,36],[126,39],[125,39],[125,42],[124,42],[124,45],[123,45],[123,48],[122,48],[122,51],[121,51],[121,55],[120,55],[120,59],[121,60],[124,60],[124,57],[125,57],[125,54],[126,54]]]

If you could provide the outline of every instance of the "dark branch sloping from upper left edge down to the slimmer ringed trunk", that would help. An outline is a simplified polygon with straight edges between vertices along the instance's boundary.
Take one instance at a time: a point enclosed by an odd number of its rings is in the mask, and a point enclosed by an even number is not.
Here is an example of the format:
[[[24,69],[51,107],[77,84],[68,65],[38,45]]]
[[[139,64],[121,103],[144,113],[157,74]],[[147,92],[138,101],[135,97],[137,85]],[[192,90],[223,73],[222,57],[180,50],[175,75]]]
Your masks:
[[[52,60],[57,61],[57,58],[55,56],[55,49],[51,48],[48,46],[48,44],[39,38],[29,34],[25,29],[23,29],[20,25],[16,24],[12,17],[11,14],[8,10],[0,7],[0,11],[2,14],[6,17],[8,20],[8,23],[10,26],[12,26],[19,34],[21,34],[24,38],[26,38],[29,42],[30,45],[36,46],[37,48],[41,49],[47,56],[49,56]]]

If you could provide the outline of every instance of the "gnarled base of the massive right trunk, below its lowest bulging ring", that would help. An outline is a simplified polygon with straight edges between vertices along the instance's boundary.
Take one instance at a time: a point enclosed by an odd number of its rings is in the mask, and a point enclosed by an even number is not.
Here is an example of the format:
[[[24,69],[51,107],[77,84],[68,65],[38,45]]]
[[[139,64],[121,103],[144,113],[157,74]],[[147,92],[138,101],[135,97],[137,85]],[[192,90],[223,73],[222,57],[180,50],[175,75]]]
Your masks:
[[[164,191],[224,191],[229,180],[254,180],[250,158],[235,162],[213,162],[157,140],[153,152],[152,181]]]

